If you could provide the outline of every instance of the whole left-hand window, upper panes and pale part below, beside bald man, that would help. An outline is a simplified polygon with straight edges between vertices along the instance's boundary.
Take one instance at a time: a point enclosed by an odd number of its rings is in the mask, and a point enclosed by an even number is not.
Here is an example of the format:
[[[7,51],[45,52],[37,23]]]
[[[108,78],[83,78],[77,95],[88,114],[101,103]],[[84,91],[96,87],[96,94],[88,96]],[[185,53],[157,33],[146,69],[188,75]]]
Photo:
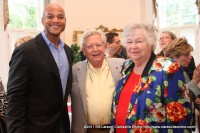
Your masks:
[[[10,22],[7,32],[10,56],[18,38],[26,35],[35,37],[43,29],[42,12],[48,3],[50,0],[8,0]]]

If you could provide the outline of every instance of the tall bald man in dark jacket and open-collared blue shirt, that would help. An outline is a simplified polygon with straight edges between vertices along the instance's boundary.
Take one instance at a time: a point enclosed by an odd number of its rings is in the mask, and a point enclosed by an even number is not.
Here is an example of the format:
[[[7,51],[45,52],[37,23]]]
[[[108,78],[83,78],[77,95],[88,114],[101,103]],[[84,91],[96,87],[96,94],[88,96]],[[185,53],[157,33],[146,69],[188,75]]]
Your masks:
[[[10,60],[8,133],[69,133],[67,97],[72,86],[72,51],[60,39],[64,9],[45,7],[44,31],[19,47]]]

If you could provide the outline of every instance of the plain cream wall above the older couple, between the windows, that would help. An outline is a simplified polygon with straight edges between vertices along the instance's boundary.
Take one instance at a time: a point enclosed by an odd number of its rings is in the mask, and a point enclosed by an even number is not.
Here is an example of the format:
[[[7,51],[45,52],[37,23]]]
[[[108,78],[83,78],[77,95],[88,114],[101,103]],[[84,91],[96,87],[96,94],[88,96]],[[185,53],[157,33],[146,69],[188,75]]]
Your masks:
[[[63,38],[68,45],[72,44],[75,30],[99,25],[121,29],[130,22],[145,20],[145,0],[63,0],[61,3],[67,17]]]

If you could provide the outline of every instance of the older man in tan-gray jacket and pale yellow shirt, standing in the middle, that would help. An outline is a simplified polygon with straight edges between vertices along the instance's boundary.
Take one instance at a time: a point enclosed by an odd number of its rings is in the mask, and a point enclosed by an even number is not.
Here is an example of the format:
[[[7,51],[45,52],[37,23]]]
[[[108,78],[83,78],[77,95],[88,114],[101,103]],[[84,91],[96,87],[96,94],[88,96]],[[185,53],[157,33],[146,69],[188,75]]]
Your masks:
[[[113,92],[124,59],[105,57],[106,37],[101,31],[85,31],[80,44],[86,60],[73,66],[72,133],[109,133],[109,128],[98,126],[110,126]]]

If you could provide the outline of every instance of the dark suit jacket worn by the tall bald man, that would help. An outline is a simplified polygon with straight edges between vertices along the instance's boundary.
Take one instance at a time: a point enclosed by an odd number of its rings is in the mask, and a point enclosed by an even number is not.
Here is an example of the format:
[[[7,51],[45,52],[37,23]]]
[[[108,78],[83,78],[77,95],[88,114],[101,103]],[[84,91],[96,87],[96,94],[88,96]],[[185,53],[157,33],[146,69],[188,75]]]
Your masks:
[[[64,48],[70,66],[64,99],[58,67],[41,34],[14,50],[7,91],[8,133],[60,133],[61,123],[70,132],[72,51]]]

